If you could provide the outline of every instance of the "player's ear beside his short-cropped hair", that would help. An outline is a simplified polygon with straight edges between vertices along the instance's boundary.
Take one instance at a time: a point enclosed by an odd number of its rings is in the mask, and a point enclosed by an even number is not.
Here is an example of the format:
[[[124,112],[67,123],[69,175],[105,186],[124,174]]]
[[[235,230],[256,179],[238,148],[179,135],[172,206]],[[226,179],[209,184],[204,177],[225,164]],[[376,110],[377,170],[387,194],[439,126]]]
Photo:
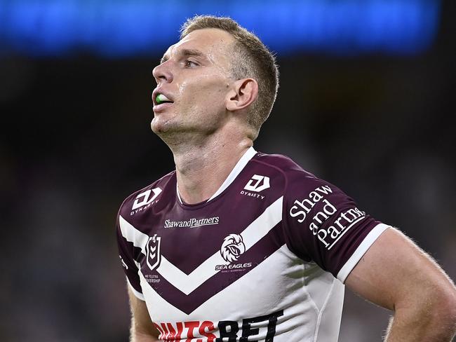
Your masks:
[[[258,83],[253,78],[242,78],[234,82],[225,99],[229,111],[239,111],[255,102],[258,97]]]

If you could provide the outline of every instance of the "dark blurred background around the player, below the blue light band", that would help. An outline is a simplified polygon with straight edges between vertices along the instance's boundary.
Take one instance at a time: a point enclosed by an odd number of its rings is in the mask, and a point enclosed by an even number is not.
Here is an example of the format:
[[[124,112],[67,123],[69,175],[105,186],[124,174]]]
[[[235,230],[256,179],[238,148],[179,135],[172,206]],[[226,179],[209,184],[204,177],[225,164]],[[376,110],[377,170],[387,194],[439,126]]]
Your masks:
[[[455,279],[453,10],[420,55],[279,55],[255,148],[337,184]],[[114,220],[173,169],[149,127],[159,57],[0,58],[1,341],[127,341]],[[381,341],[389,312],[346,296],[340,341]]]

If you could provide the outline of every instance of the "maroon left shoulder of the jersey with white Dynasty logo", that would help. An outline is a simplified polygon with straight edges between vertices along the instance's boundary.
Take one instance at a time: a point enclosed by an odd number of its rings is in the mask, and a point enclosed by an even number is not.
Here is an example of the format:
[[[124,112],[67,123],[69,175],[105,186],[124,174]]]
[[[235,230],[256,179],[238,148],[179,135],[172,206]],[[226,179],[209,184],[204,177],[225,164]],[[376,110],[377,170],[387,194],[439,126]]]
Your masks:
[[[123,200],[119,214],[126,217],[131,212],[144,210],[147,205],[152,205],[161,198],[163,191],[170,186],[170,182],[175,184],[175,170],[157,179],[152,184],[131,193]]]

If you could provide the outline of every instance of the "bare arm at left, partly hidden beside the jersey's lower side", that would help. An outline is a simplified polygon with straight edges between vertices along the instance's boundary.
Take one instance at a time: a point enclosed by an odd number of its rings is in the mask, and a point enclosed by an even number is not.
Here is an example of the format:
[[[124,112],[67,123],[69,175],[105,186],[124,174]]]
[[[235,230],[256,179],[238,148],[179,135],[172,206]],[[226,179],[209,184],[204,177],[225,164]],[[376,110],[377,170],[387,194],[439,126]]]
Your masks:
[[[128,297],[130,299],[131,310],[131,341],[158,341],[159,331],[154,327],[154,323],[147,310],[146,302],[138,299],[130,287],[128,287]]]

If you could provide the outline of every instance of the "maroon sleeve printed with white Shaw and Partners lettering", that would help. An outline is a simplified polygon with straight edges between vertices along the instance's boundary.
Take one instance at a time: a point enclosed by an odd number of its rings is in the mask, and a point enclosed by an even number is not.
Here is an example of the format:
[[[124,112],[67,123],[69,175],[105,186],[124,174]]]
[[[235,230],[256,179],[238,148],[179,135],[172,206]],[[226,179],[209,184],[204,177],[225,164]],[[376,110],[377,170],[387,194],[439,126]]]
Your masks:
[[[336,186],[305,172],[288,178],[283,205],[290,250],[335,277],[380,224]]]

